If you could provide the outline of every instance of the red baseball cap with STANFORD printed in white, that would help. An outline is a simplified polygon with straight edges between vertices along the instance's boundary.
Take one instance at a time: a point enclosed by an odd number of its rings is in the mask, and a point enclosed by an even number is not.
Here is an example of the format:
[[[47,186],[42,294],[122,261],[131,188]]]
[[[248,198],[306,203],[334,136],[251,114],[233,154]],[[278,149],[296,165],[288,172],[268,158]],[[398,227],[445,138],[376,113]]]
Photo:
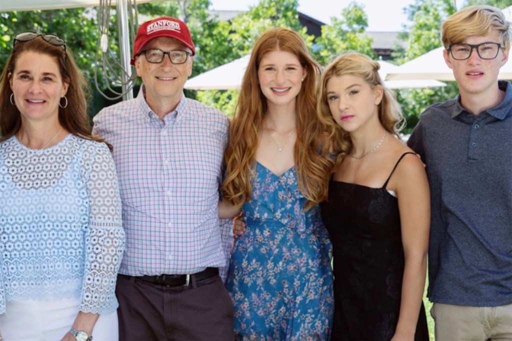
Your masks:
[[[158,37],[178,39],[192,50],[192,55],[196,54],[194,42],[192,41],[187,25],[179,19],[170,16],[161,16],[139,26],[135,42],[133,43],[133,57],[130,63],[134,65],[135,56],[142,51],[144,45]]]

